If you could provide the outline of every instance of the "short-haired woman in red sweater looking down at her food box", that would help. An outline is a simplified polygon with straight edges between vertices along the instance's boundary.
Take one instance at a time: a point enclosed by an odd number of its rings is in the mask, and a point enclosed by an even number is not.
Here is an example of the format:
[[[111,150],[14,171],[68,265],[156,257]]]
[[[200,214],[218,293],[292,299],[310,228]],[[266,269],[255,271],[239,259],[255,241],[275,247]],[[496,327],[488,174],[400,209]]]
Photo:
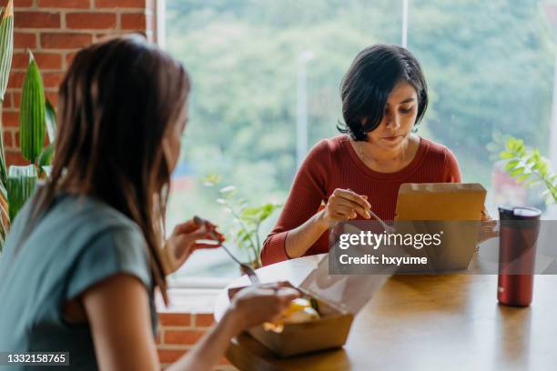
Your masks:
[[[342,135],[321,140],[300,166],[264,243],[264,266],[327,253],[329,226],[370,219],[370,209],[393,220],[403,183],[461,182],[451,151],[412,133],[428,106],[428,89],[408,50],[396,45],[364,49],[344,76],[340,95]]]

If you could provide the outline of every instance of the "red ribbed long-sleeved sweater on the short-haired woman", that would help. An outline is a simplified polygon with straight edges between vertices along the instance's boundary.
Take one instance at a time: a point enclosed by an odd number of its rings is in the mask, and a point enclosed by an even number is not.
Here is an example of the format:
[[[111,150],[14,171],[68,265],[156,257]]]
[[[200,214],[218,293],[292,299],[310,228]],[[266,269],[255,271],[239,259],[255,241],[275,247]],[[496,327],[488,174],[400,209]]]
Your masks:
[[[285,250],[289,230],[315,215],[321,202],[327,203],[336,188],[367,195],[375,214],[383,220],[393,220],[401,184],[460,182],[456,157],[444,145],[424,138],[420,138],[420,147],[410,164],[395,173],[371,170],[360,160],[347,135],[321,140],[300,166],[277,225],[263,244],[263,266],[289,259]],[[328,251],[329,233],[325,232],[304,256]]]

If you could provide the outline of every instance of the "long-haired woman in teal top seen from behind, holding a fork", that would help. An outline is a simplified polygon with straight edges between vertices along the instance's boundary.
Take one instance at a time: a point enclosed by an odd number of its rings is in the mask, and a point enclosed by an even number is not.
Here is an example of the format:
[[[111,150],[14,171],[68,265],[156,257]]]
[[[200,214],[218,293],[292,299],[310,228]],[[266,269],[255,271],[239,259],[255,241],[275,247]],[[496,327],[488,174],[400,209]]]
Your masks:
[[[0,352],[69,352],[71,369],[158,369],[154,290],[200,239],[193,219],[164,240],[169,177],[187,122],[184,67],[139,36],[77,53],[59,90],[51,177],[0,256]],[[240,331],[298,296],[254,286],[168,369],[207,370]],[[16,369],[35,366],[15,365]],[[41,367],[43,369],[43,367]]]

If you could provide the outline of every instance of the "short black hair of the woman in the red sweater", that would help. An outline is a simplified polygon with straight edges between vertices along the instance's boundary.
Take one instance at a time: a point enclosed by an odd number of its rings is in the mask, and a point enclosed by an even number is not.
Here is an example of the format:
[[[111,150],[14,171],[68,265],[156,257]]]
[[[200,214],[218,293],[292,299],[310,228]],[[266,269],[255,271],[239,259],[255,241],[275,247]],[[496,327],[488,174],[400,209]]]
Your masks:
[[[418,95],[420,123],[428,106],[428,86],[418,60],[399,45],[372,45],[356,55],[340,83],[342,116],[340,133],[352,139],[366,140],[368,133],[380,125],[390,92],[400,81],[414,86]],[[366,125],[361,120],[367,118]]]

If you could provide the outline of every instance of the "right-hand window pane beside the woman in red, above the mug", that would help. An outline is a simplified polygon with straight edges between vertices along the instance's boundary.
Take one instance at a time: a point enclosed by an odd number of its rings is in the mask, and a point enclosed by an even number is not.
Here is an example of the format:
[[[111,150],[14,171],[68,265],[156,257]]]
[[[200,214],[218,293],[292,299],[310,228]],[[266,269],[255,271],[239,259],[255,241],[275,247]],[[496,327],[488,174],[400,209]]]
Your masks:
[[[487,145],[494,133],[510,134],[548,153],[554,46],[546,3],[410,1],[408,46],[432,93],[420,133],[451,148],[464,181],[489,188],[492,215],[503,203],[544,208],[542,190],[510,182]]]

